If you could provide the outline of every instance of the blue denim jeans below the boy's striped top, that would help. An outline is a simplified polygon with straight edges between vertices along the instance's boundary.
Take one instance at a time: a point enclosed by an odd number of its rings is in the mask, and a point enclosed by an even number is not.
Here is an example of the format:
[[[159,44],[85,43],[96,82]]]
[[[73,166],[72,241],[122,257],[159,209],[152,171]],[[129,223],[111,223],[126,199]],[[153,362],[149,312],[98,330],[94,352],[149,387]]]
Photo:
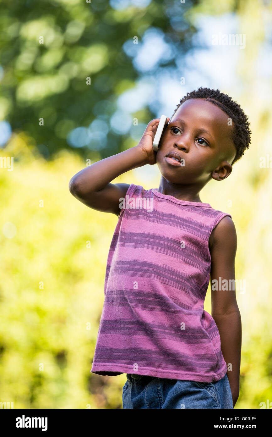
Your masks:
[[[227,374],[216,382],[127,374],[122,399],[123,408],[233,409]]]

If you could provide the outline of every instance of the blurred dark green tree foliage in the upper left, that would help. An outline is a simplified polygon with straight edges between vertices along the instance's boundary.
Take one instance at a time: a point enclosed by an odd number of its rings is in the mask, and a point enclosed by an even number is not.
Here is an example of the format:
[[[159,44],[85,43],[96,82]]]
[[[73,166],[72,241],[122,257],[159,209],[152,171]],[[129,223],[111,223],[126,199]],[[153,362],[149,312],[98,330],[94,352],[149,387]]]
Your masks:
[[[140,44],[154,26],[184,54],[192,46],[195,28],[182,12],[195,3],[188,0],[177,10],[174,0],[152,1],[147,8],[114,10],[106,0],[2,0],[0,65],[5,73],[0,114],[15,132],[28,132],[46,158],[69,149],[66,137],[71,129],[88,126],[96,117],[109,125],[118,96],[141,76],[124,43],[130,40],[133,49],[134,35]],[[184,23],[181,30],[170,25],[172,14]],[[163,62],[163,68],[172,65],[173,59]],[[143,121],[152,115],[147,110]],[[102,157],[121,152],[124,139],[110,130]],[[93,159],[91,149],[85,146],[79,153]]]

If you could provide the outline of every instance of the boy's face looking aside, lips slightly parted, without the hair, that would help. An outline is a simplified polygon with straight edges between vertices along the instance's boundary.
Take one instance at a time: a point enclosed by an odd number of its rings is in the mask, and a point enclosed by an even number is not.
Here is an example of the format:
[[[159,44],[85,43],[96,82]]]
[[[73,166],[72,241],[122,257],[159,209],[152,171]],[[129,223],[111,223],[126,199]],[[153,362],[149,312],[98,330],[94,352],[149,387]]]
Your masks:
[[[231,140],[234,127],[228,120],[224,111],[204,99],[182,103],[165,128],[157,152],[162,176],[173,184],[225,179],[236,154]],[[184,166],[173,157],[184,160]]]

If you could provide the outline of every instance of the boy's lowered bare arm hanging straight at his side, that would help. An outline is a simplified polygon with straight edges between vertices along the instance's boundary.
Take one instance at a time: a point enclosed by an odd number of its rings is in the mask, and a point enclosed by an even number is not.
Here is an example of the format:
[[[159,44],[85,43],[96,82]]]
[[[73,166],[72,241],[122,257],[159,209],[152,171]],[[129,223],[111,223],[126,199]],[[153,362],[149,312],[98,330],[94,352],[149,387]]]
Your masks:
[[[220,333],[221,350],[227,366],[231,364],[231,370],[227,370],[227,378],[231,386],[233,406],[238,400],[240,390],[240,364],[242,327],[241,315],[236,301],[235,282],[231,290],[219,289],[220,277],[223,282],[232,284],[230,279],[235,280],[235,255],[237,249],[237,236],[234,222],[228,216],[222,218],[213,229],[209,239],[211,255],[211,304],[213,317]],[[217,280],[217,290],[212,290],[213,280]],[[222,288],[224,288],[222,286]]]

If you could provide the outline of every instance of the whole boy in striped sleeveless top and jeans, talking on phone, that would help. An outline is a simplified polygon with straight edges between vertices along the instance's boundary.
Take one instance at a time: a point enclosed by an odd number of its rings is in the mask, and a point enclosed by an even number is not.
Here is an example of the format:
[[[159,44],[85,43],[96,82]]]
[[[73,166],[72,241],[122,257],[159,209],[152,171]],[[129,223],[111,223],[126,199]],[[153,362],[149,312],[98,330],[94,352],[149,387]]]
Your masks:
[[[233,408],[241,361],[235,287],[211,288],[211,316],[203,303],[210,280],[235,280],[237,237],[231,215],[201,202],[200,191],[231,174],[250,143],[248,118],[226,94],[201,87],[168,118],[156,153],[158,122],[137,146],[69,183],[79,201],[118,217],[91,371],[127,374],[123,408]],[[110,183],[155,163],[158,189]]]

